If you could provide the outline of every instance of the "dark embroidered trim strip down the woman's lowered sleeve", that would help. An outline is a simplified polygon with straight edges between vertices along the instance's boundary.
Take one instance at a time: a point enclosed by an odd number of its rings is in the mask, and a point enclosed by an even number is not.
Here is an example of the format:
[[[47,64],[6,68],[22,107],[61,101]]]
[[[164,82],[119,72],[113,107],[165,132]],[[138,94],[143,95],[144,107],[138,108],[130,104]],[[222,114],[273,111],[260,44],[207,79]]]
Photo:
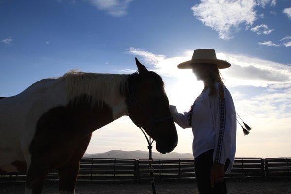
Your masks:
[[[215,163],[218,163],[220,161],[223,134],[224,134],[224,129],[225,129],[226,104],[225,104],[225,99],[222,100],[221,98],[219,98],[219,118],[220,118],[220,129],[219,129],[218,143],[217,143],[217,148],[216,148],[216,156],[214,159]]]

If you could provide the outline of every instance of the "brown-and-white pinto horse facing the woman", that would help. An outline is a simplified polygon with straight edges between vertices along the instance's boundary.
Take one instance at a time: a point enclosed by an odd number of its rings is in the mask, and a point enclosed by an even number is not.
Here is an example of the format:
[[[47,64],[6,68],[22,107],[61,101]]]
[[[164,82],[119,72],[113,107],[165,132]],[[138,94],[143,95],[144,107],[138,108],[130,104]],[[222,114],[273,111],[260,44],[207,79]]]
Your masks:
[[[25,194],[40,194],[51,169],[59,193],[75,193],[80,160],[92,132],[129,116],[160,153],[177,146],[162,78],[136,59],[133,74],[69,71],[0,98],[0,172],[26,172]]]

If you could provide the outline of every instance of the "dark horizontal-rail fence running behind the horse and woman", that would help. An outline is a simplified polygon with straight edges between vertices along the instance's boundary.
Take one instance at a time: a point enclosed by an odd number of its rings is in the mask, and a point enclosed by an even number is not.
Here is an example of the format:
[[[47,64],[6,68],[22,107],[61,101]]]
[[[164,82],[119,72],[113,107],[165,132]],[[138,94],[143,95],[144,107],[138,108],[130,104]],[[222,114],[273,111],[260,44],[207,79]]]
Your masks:
[[[154,178],[164,180],[194,180],[194,159],[154,159]],[[0,183],[25,182],[24,172],[0,173]],[[226,179],[287,179],[291,180],[291,158],[235,158]],[[57,181],[56,170],[50,171],[47,181]],[[148,182],[147,159],[82,158],[79,182]]]

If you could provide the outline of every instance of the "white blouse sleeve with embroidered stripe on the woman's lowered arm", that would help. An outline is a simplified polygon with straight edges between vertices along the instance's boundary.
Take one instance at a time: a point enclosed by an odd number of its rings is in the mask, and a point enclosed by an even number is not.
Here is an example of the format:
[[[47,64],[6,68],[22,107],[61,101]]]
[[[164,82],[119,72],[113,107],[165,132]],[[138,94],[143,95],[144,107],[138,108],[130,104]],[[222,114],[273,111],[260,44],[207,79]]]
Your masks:
[[[213,95],[210,100],[211,113],[215,130],[215,149],[213,162],[225,164],[231,151],[232,130],[232,98],[225,92],[224,87],[219,84],[219,95]]]

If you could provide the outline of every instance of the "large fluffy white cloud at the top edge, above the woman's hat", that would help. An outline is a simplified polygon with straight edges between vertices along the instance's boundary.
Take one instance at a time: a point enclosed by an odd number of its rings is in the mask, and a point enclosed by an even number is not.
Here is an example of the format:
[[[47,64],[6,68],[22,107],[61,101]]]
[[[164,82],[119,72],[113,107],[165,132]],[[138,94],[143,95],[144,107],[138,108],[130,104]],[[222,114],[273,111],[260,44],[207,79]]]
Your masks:
[[[253,25],[257,19],[256,5],[254,0],[201,0],[191,10],[205,26],[217,31],[219,38],[228,40],[240,24]]]

